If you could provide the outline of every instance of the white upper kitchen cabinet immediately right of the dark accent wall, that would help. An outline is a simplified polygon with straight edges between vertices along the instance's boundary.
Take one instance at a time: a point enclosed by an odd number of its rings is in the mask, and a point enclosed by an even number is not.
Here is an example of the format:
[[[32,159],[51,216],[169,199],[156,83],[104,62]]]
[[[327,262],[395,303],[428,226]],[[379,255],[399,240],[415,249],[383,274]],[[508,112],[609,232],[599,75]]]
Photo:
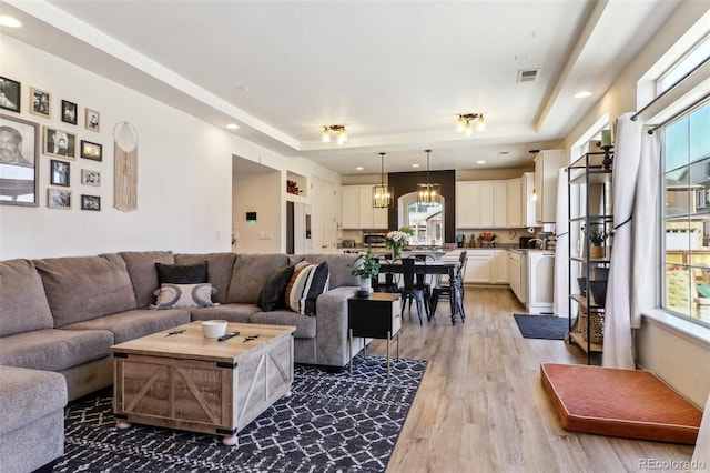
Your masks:
[[[506,181],[456,183],[456,228],[505,229],[508,227]]]

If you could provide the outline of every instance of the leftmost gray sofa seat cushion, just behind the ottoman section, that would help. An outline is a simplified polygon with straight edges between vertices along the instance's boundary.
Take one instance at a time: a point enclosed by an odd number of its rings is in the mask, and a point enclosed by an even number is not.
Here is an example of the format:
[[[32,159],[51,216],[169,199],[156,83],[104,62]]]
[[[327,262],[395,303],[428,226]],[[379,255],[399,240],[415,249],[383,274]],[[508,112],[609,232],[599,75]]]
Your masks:
[[[3,336],[0,364],[62,371],[111,354],[114,338],[104,330],[43,329]]]

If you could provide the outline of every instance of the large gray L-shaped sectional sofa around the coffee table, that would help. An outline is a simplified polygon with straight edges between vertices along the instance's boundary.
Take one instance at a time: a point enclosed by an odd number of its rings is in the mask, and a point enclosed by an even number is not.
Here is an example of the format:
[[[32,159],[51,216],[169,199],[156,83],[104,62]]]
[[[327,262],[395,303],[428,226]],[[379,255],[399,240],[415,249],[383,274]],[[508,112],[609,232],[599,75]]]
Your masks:
[[[51,415],[57,419],[58,403],[63,407],[67,401],[112,384],[111,345],[191,321],[293,325],[296,363],[342,370],[349,362],[347,299],[357,290],[349,268],[355,258],[142,251],[0,262],[0,444],[11,441],[13,445],[9,456],[2,455],[3,467],[31,471],[37,465],[27,463],[30,456],[39,459],[40,465],[61,456],[63,423],[59,444],[38,444],[33,432],[38,425],[49,432],[42,422],[50,422]],[[257,301],[271,275],[304,259],[315,264],[325,261],[329,270],[328,290],[316,299],[315,315],[287,309],[262,311]],[[212,300],[219,305],[150,308],[160,286],[155,263],[204,261],[216,290]],[[36,402],[26,405],[17,399],[28,396],[28,389]],[[42,410],[42,404],[53,407]],[[6,422],[10,415],[6,410],[13,412],[11,422]],[[18,412],[26,410],[34,412]]]

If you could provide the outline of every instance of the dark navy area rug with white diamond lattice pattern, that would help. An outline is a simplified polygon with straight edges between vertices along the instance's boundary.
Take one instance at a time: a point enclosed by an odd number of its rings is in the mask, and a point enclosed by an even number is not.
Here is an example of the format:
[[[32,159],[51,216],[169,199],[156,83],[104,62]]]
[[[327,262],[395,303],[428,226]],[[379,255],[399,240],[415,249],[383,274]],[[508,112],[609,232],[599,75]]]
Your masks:
[[[356,356],[353,374],[296,365],[282,397],[237,433],[215,435],[133,424],[118,430],[112,390],[67,407],[65,452],[55,472],[382,472],[407,417],[426,361]]]

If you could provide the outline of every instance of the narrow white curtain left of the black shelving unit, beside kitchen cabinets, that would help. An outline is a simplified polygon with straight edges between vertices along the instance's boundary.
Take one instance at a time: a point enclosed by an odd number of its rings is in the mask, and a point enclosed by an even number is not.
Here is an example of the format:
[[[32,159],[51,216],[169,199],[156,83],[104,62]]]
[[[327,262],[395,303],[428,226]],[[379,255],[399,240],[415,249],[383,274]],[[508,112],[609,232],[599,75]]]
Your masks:
[[[555,291],[552,312],[557,316],[569,316],[569,182],[567,168],[557,172],[557,209],[555,214]]]

